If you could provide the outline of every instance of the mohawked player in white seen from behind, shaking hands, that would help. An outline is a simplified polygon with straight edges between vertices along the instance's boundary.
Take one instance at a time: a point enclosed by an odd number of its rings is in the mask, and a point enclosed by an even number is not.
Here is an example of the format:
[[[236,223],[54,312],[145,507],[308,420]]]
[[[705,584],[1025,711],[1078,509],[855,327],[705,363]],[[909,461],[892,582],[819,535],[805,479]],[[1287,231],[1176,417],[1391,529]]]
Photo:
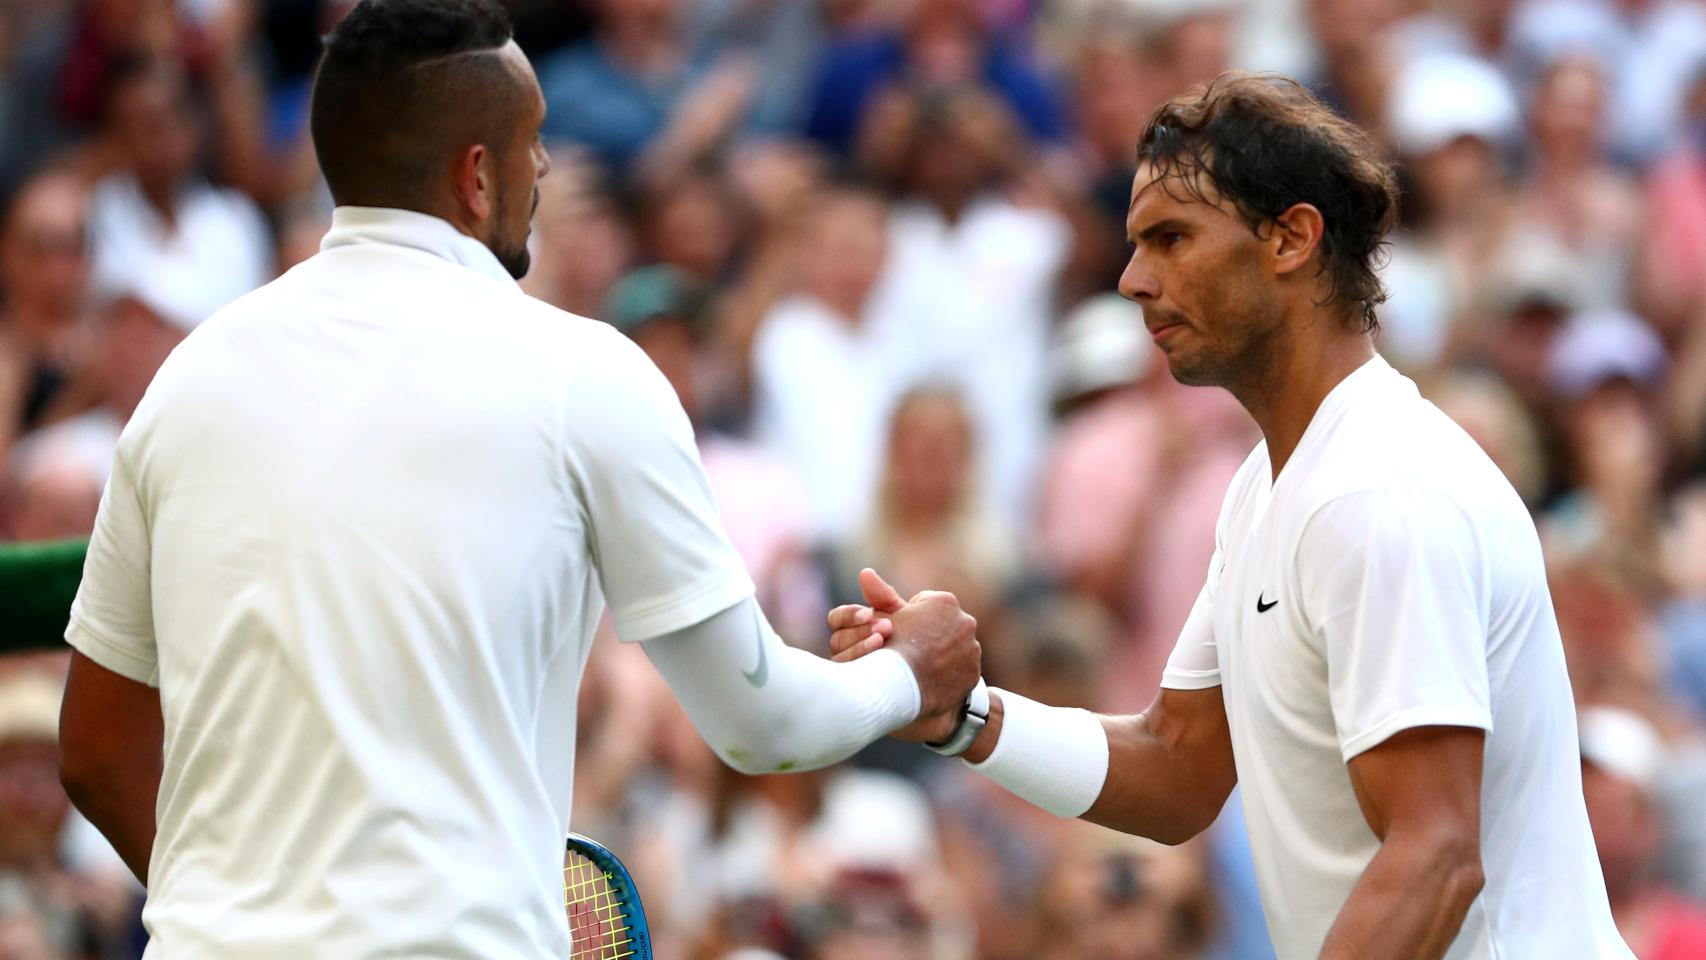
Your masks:
[[[310,111],[331,232],[160,368],[67,633],[61,774],[147,957],[570,957],[606,604],[742,771],[962,726],[952,597],[882,656],[786,646],[664,375],[517,288],[544,99],[496,0],[362,0]]]

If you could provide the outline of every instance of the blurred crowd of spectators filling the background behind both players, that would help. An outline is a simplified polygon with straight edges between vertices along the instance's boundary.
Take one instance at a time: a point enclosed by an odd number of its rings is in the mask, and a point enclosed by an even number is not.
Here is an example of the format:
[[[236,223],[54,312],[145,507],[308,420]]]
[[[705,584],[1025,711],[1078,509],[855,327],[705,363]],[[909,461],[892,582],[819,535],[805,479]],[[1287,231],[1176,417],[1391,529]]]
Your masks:
[[[1112,293],[1146,116],[1249,68],[1367,126],[1378,346],[1534,510],[1619,926],[1706,957],[1706,0],[507,2],[553,150],[524,286],[674,384],[778,631],[822,650],[875,566],[1054,704],[1150,701],[1257,440]],[[346,7],[0,3],[0,537],[87,535],[162,358],[316,252]],[[0,958],[136,957],[63,665],[0,663]],[[614,638],[580,706],[575,827],[664,958],[1271,957],[1237,801],[1163,847],[899,745],[739,776]]]

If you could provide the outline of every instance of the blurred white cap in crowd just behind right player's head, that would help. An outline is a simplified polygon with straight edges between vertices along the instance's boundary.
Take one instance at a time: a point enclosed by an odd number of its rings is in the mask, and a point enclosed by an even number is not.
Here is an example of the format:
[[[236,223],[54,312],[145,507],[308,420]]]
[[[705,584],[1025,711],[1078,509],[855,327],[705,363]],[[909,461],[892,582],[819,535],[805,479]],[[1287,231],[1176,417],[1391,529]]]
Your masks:
[[[1399,70],[1387,99],[1392,143],[1411,157],[1460,136],[1503,145],[1517,130],[1517,95],[1491,63],[1462,53],[1428,53]]]

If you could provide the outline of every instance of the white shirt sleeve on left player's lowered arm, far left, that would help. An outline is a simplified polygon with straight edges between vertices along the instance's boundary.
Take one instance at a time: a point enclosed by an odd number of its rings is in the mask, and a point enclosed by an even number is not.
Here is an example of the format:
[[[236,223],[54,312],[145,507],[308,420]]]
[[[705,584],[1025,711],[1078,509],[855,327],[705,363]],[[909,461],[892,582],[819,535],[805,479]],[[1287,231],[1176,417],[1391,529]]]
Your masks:
[[[123,450],[101,493],[65,641],[121,677],[159,687],[148,517]]]

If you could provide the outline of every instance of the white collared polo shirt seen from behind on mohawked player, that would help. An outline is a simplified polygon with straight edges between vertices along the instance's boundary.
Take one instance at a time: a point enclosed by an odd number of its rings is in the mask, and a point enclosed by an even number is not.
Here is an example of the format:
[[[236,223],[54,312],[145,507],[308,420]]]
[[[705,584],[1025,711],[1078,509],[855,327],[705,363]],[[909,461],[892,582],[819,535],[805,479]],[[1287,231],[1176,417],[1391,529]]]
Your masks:
[[[172,353],[70,643],[157,684],[148,957],[568,955],[575,696],[752,583],[688,418],[479,242],[341,208]]]

